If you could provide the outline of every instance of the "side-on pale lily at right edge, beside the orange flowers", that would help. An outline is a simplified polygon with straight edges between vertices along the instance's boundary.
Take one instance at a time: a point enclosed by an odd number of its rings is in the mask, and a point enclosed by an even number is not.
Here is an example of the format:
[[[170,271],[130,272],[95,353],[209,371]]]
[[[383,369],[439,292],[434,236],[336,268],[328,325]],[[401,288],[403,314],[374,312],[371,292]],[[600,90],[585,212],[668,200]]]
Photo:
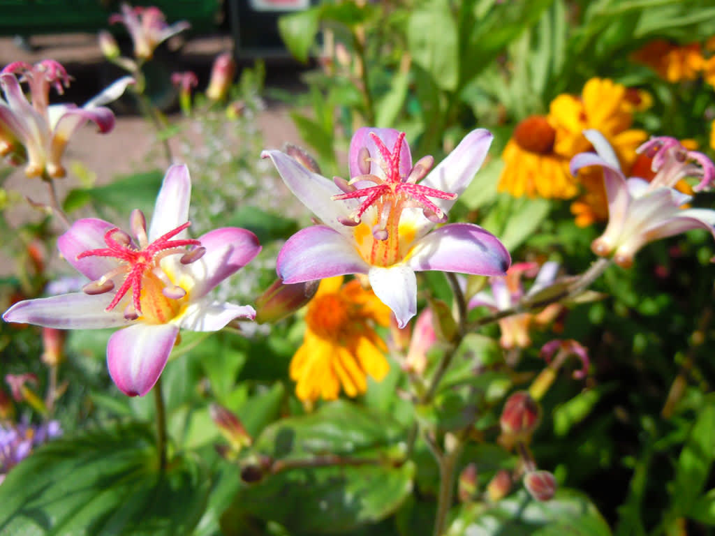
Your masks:
[[[588,166],[603,168],[608,199],[606,231],[591,244],[593,252],[610,257],[621,267],[633,264],[633,256],[648,242],[671,237],[690,229],[706,229],[715,237],[715,211],[684,209],[691,196],[674,189],[683,177],[699,179],[696,189],[709,187],[715,167],[704,154],[689,152],[673,138],[656,137],[638,148],[652,156],[656,176],[651,182],[639,177],[626,179],[618,158],[603,135],[596,130],[583,133],[596,153],[581,153],[571,159],[571,173]]]

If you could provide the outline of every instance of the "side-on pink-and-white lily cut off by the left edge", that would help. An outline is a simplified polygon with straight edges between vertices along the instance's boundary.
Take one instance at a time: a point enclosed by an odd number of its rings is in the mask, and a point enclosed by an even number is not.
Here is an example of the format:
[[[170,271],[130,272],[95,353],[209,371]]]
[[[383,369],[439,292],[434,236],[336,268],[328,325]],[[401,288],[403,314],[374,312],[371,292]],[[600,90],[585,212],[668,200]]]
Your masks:
[[[31,101],[23,94],[21,81],[29,85]],[[0,99],[0,156],[9,157],[14,164],[26,161],[27,177],[64,177],[62,155],[71,135],[87,121],[94,121],[100,134],[111,131],[114,114],[103,105],[122,96],[132,83],[131,76],[121,78],[82,108],[76,104],[50,106],[50,87],[62,94],[69,86],[64,67],[51,59],[35,65],[23,61],[9,64],[0,71],[5,94],[5,99]]]

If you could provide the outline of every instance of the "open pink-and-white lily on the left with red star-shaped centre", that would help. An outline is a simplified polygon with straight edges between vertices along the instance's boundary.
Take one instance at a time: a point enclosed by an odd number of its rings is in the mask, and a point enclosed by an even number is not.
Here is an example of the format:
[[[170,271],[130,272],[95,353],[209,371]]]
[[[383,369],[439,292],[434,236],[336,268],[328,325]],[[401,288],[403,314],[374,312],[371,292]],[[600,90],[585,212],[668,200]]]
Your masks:
[[[130,219],[133,236],[102,219],[75,222],[57,245],[92,282],[84,292],[19,302],[3,319],[59,329],[124,327],[109,338],[109,374],[129,396],[149,392],[179,328],[217,331],[255,317],[253,307],[215,301],[209,292],[260,252],[258,239],[236,227],[189,239],[190,194],[187,167],[172,166],[148,231],[139,210]]]

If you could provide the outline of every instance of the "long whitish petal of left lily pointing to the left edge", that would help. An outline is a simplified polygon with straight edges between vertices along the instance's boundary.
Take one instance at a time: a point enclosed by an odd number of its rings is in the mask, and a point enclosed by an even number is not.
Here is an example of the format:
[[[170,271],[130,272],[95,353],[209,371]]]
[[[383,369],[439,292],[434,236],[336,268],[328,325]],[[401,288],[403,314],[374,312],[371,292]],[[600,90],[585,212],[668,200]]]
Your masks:
[[[105,311],[114,296],[90,296],[84,292],[61,294],[49,298],[26,299],[14,304],[3,314],[5,322],[21,322],[57,329],[102,329],[128,324],[117,309]]]

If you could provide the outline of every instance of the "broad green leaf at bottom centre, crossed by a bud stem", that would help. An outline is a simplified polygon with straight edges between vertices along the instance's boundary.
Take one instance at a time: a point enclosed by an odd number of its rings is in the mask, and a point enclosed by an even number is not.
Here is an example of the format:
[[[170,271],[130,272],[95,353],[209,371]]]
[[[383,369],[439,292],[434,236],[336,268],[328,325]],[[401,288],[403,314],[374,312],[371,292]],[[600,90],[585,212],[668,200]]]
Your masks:
[[[412,490],[413,465],[391,461],[389,449],[401,439],[402,430],[388,417],[343,400],[275,422],[257,438],[254,450],[294,467],[243,487],[231,517],[273,520],[305,535],[378,522]],[[325,465],[323,457],[334,461]],[[240,533],[231,528],[227,532]]]

